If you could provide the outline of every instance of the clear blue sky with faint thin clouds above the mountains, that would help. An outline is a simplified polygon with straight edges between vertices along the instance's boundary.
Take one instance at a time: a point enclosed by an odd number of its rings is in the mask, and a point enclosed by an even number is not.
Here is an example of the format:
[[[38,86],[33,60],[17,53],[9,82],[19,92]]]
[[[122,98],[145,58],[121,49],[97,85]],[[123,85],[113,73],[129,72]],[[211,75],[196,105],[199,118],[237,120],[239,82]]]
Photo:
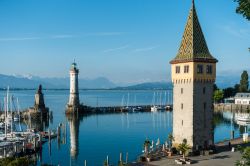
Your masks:
[[[191,0],[1,0],[0,73],[114,82],[170,79]],[[249,69],[250,22],[233,0],[196,0],[218,74]]]

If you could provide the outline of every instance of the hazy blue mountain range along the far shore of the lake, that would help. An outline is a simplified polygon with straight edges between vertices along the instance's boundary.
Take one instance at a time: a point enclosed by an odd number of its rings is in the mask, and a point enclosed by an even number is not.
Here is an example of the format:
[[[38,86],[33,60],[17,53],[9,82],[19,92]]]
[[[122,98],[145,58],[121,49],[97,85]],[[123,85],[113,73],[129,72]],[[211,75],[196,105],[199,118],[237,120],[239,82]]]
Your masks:
[[[217,76],[216,84],[219,88],[234,86],[239,83],[239,76]],[[7,86],[17,89],[36,89],[40,84],[46,89],[68,89],[69,78],[41,78],[37,76],[18,76],[0,74],[0,88]],[[170,82],[145,82],[130,86],[120,86],[105,77],[95,79],[79,79],[80,89],[124,89],[124,90],[151,90],[151,89],[170,89]]]

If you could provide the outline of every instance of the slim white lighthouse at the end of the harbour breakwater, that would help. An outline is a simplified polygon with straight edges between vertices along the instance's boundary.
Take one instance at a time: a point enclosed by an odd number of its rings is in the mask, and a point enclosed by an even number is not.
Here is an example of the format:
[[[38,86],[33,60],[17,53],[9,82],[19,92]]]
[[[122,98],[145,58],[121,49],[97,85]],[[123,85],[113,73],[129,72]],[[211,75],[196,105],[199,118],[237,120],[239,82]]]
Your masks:
[[[79,69],[74,62],[70,68],[70,95],[68,102],[68,109],[76,110],[79,107],[79,90],[78,90],[78,73]]]

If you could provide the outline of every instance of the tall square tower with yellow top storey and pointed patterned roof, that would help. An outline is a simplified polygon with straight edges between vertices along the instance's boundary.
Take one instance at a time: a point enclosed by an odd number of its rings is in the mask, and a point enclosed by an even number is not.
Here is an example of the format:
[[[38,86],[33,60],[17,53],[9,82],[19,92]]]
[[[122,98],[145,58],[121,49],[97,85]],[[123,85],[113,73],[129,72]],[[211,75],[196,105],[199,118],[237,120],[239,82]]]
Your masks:
[[[170,61],[175,145],[183,139],[193,149],[213,143],[212,96],[216,63],[208,50],[193,1],[178,54]]]

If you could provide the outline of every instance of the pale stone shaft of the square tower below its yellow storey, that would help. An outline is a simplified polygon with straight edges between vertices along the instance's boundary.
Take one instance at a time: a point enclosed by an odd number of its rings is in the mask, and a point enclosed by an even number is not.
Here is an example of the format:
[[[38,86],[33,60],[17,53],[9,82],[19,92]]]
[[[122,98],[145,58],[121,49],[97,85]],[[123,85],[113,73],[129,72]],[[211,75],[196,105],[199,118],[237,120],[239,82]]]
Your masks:
[[[213,142],[213,83],[188,82],[174,84],[173,136],[174,144],[187,143],[203,147]]]

